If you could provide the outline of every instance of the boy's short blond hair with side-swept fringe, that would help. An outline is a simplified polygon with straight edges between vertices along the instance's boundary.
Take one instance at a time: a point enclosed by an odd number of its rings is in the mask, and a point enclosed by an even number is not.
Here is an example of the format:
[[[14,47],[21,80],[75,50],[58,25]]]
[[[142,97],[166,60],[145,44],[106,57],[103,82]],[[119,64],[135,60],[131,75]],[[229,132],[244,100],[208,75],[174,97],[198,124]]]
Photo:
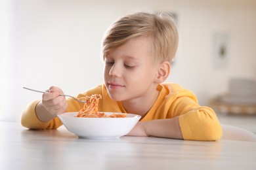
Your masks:
[[[179,35],[173,18],[167,13],[136,12],[123,16],[110,26],[102,42],[103,59],[110,50],[136,37],[149,38],[155,61],[171,62],[175,58]]]

